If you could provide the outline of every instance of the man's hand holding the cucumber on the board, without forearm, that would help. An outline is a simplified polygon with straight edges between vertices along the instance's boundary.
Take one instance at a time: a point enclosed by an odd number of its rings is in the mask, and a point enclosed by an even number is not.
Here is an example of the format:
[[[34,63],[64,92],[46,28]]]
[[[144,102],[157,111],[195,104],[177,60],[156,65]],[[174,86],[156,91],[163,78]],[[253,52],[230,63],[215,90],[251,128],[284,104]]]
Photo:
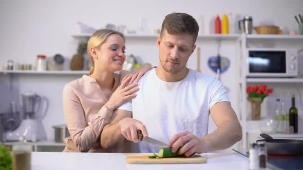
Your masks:
[[[190,157],[195,153],[201,154],[206,151],[206,142],[187,131],[174,135],[172,139],[168,141],[168,146],[173,147],[172,152],[174,153],[181,147],[178,154],[184,154],[186,157]]]

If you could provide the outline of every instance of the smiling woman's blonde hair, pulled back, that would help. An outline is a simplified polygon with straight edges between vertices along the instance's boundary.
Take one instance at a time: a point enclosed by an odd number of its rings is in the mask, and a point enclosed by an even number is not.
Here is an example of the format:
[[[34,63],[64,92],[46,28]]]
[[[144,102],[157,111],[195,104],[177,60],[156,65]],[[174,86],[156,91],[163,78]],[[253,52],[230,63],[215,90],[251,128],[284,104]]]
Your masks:
[[[108,30],[108,29],[98,30],[98,31],[94,32],[89,37],[89,40],[87,42],[87,54],[88,54],[88,56],[90,58],[90,61],[92,63],[92,66],[91,66],[90,71],[89,71],[89,75],[91,75],[93,73],[93,70],[94,70],[94,60],[93,60],[93,57],[90,54],[90,49],[92,47],[99,48],[106,41],[106,39],[109,37],[109,35],[112,35],[112,34],[120,35],[123,38],[123,40],[125,41],[125,36],[121,32]]]

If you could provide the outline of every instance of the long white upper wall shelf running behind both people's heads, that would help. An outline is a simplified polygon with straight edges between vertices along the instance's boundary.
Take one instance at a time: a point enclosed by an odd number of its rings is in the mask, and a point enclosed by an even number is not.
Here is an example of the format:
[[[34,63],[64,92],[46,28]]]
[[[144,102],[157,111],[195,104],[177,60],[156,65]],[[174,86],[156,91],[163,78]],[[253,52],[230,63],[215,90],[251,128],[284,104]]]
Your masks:
[[[74,38],[89,38],[91,34],[73,34]],[[128,34],[126,38],[157,38],[158,34]],[[240,34],[204,34],[198,35],[197,39],[230,39],[236,40]]]

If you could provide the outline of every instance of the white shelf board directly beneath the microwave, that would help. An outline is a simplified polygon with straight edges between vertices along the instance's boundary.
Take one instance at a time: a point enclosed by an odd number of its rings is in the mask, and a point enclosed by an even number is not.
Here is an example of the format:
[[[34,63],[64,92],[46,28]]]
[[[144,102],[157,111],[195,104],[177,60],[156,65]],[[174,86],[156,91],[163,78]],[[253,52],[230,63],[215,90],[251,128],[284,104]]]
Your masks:
[[[281,82],[281,83],[303,83],[303,78],[247,78],[247,82]]]

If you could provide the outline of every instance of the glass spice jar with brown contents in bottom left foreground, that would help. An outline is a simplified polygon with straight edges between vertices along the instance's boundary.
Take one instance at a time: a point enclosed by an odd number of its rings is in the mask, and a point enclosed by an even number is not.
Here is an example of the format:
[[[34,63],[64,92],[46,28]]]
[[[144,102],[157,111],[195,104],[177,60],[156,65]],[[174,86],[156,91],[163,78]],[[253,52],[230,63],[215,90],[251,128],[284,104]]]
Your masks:
[[[20,140],[20,142],[14,143],[12,151],[13,170],[30,170],[32,145]]]

